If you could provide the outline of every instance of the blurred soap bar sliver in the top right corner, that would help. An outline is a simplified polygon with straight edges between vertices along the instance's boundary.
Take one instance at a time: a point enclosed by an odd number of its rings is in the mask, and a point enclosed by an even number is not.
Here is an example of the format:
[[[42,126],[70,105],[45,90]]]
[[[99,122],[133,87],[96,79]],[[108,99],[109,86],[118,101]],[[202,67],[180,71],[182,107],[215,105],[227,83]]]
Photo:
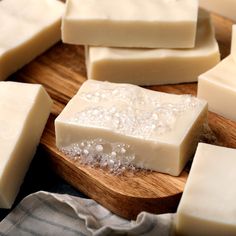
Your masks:
[[[236,21],[235,0],[199,0],[200,7]]]

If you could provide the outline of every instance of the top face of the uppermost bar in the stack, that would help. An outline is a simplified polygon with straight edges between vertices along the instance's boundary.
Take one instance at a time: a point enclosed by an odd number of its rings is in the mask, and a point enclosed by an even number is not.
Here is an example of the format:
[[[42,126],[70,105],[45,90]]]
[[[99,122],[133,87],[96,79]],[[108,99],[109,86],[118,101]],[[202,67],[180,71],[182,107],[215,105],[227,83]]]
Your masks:
[[[69,0],[67,16],[120,21],[192,21],[197,0]]]

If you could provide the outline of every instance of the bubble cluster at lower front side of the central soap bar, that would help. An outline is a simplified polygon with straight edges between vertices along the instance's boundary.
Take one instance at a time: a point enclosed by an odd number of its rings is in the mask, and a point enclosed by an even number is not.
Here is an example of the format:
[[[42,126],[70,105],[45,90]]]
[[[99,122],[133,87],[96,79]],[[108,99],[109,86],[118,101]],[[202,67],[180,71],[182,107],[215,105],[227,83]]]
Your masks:
[[[107,168],[112,174],[136,170],[132,165],[135,154],[127,144],[110,143],[103,139],[83,140],[79,144],[64,147],[61,151],[72,161],[80,161],[82,164],[101,169]]]

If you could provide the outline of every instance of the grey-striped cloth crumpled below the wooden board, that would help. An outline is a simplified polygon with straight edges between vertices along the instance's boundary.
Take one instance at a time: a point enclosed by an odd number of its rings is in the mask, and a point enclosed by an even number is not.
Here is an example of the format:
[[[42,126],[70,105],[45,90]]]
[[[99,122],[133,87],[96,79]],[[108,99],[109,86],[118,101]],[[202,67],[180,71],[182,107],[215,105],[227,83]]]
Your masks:
[[[0,222],[0,235],[166,236],[171,233],[173,218],[173,214],[142,212],[136,221],[128,221],[90,199],[37,192]]]

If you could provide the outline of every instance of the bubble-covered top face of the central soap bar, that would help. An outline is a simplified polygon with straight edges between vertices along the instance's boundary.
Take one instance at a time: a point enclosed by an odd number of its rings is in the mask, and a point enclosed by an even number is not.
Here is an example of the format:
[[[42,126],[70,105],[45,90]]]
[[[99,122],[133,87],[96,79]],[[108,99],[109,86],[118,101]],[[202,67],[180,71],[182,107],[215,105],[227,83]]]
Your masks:
[[[176,142],[205,105],[190,95],[171,95],[135,85],[88,80],[60,119],[142,139],[161,137],[163,141],[173,139]]]

